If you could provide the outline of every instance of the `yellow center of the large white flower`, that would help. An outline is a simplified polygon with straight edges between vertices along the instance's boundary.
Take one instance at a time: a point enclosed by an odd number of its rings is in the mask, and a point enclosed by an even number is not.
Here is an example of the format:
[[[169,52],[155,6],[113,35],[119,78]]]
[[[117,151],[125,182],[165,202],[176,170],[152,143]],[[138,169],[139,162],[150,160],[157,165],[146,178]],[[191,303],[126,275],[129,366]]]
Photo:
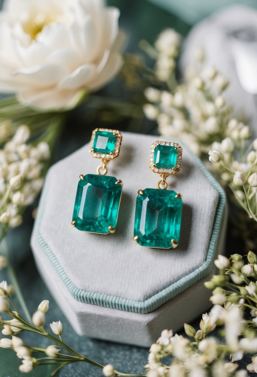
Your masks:
[[[41,33],[44,26],[49,25],[57,20],[57,14],[30,14],[29,17],[22,22],[23,30],[31,36],[31,40],[37,39],[37,35]]]

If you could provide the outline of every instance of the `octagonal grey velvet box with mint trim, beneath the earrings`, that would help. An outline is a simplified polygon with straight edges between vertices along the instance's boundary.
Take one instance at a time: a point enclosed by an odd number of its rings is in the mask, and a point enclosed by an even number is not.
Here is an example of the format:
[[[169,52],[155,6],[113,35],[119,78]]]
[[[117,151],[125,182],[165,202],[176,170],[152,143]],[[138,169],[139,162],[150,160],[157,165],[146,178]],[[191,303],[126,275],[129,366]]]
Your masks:
[[[122,134],[121,154],[107,173],[124,182],[116,233],[85,233],[70,225],[79,175],[94,174],[101,161],[86,144],[49,170],[31,246],[42,278],[78,334],[149,346],[163,329],[176,331],[210,307],[203,282],[223,253],[226,199],[183,147],[181,172],[167,178],[168,189],[183,194],[179,246],[134,244],[138,189],[155,188],[159,180],[148,167],[158,137]]]

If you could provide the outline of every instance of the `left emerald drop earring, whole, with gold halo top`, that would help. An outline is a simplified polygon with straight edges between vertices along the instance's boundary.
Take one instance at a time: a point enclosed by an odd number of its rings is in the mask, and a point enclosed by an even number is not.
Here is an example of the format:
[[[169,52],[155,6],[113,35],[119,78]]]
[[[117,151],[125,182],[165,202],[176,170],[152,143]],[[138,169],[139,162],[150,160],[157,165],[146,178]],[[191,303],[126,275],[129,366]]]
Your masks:
[[[115,233],[123,183],[106,176],[107,163],[118,157],[122,135],[118,130],[95,129],[90,153],[101,158],[96,174],[80,175],[71,225],[89,233]]]

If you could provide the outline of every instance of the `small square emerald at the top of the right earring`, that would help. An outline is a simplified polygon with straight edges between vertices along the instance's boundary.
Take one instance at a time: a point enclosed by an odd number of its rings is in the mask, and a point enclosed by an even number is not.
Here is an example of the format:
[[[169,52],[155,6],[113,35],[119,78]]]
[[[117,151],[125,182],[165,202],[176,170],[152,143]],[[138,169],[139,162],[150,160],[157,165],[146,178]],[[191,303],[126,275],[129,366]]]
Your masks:
[[[157,145],[155,147],[155,154],[153,163],[156,167],[164,167],[171,169],[177,162],[177,150],[171,145]]]

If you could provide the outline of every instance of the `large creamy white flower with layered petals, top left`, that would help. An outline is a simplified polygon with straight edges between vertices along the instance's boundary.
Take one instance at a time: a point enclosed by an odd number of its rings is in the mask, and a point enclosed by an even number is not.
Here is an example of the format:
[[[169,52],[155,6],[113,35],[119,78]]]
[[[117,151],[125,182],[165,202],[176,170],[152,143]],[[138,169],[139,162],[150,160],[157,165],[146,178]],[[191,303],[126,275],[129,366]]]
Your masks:
[[[0,90],[38,109],[69,109],[121,67],[119,10],[103,0],[5,0]]]

